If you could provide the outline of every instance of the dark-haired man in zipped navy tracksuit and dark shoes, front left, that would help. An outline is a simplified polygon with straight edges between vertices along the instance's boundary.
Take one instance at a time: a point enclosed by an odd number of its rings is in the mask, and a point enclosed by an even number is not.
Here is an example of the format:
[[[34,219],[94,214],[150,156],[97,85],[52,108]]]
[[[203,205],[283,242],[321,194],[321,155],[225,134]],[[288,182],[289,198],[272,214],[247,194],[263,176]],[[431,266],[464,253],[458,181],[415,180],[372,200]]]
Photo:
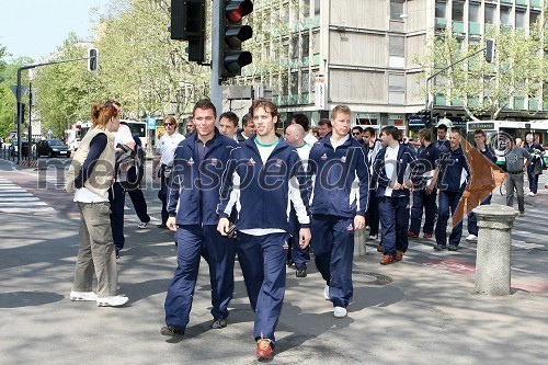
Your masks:
[[[233,292],[235,248],[217,231],[219,187],[237,142],[215,127],[217,113],[209,100],[194,106],[196,133],[179,144],[168,194],[168,227],[175,231],[178,267],[165,297],[164,335],[184,334],[201,254],[209,264],[212,328],[227,326],[228,304]]]

